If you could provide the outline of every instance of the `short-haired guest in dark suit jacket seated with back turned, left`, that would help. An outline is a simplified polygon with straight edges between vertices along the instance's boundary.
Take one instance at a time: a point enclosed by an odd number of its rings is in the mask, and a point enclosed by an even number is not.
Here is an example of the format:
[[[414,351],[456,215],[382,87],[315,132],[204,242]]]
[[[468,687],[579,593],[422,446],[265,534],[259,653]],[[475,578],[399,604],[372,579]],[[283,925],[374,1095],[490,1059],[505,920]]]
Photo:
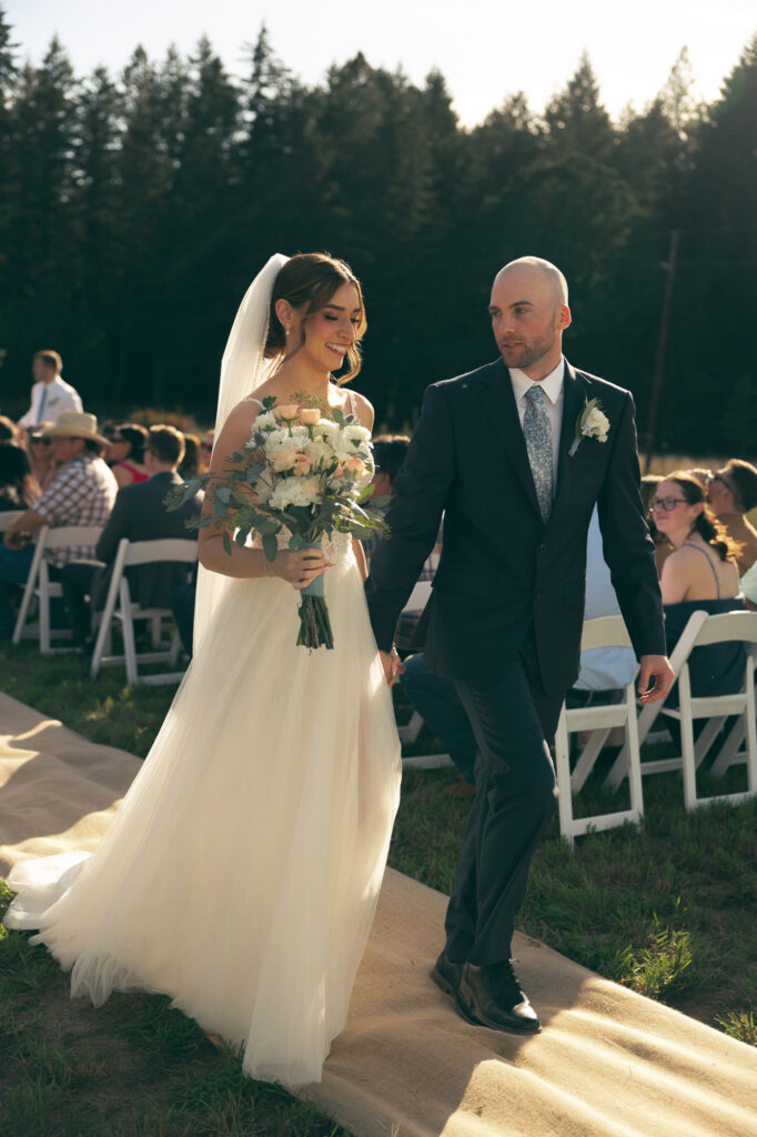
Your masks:
[[[97,559],[75,561],[64,570],[64,599],[74,636],[85,649],[92,640],[92,612],[105,604],[122,538],[155,541],[163,538],[191,540],[196,536],[185,522],[199,516],[200,498],[193,498],[172,513],[165,504],[166,495],[182,484],[177,470],[183,455],[181,431],[175,426],[151,426],[144,447],[148,481],[118,490],[113,513],[94,550]],[[143,608],[170,607],[172,592],[186,581],[186,566],[181,564],[136,565],[127,572],[132,599]]]

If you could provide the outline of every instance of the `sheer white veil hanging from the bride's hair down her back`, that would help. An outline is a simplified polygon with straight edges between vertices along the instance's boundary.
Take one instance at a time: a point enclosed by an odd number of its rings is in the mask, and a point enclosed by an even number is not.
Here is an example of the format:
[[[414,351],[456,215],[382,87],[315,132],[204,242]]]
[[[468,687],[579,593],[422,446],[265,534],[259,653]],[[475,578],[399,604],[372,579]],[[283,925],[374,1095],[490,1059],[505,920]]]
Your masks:
[[[248,395],[253,395],[278,365],[277,359],[266,359],[264,350],[274,281],[288,260],[289,257],[283,254],[274,254],[255,277],[239,306],[221,364],[216,438],[236,404]],[[230,576],[208,572],[202,565],[199,566],[194,606],[196,647],[205,636],[230,583]]]

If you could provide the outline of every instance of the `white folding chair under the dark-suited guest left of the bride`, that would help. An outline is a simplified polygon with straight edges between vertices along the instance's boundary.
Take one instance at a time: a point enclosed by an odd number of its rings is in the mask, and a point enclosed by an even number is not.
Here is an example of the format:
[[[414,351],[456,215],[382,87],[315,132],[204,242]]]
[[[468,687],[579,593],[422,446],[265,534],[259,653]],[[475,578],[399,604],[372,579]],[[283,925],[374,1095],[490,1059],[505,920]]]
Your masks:
[[[122,538],[116,553],[113,566],[113,575],[108,587],[105,608],[100,617],[100,626],[92,653],[90,675],[94,679],[100,667],[110,664],[123,663],[126,665],[126,679],[130,683],[143,682],[156,686],[158,683],[177,682],[183,671],[161,672],[155,675],[140,675],[138,672],[138,661],[140,663],[169,663],[176,665],[181,642],[174,629],[172,641],[168,647],[160,646],[161,625],[165,617],[173,619],[170,608],[141,608],[132,600],[128,579],[125,570],[132,565],[147,564],[185,564],[193,565],[197,561],[197,539],[164,538],[156,541],[130,541]],[[123,655],[106,655],[106,644],[110,632],[110,625],[116,620],[120,624],[124,639]],[[149,620],[152,631],[152,652],[136,652],[134,638],[134,621]]]

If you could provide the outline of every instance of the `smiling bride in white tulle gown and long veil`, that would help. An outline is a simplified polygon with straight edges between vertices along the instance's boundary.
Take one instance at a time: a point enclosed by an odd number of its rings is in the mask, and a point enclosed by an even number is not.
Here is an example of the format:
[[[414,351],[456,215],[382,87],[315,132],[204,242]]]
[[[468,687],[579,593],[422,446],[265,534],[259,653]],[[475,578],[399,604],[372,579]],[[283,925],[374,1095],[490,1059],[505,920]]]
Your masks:
[[[343,262],[272,257],[224,352],[211,473],[225,472],[268,396],[371,428],[371,404],[343,388],[364,330]],[[259,547],[232,541],[228,555],[223,530],[200,530],[194,657],[143,769],[92,856],[16,865],[5,922],[39,929],[33,943],[73,969],[72,996],[167,994],[243,1048],[251,1076],[293,1088],[321,1079],[344,1026],[400,757],[359,542],[278,541],[268,563]],[[334,649],[309,652],[296,646],[299,591],[323,574]]]

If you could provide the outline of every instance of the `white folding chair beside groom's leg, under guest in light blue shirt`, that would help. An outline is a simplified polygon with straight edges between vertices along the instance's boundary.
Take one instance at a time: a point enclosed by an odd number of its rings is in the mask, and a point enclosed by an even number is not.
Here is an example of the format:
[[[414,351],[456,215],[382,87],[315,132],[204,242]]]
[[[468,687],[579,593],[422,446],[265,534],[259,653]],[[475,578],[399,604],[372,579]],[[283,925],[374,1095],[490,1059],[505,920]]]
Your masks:
[[[587,652],[604,647],[632,647],[622,616],[599,616],[596,620],[585,621],[581,637],[581,650]],[[626,821],[638,825],[643,816],[634,683],[635,679],[624,688],[621,703],[598,704],[572,709],[563,704],[555,736],[555,765],[557,767],[560,833],[571,846],[573,846],[574,838],[581,833],[587,833],[590,830],[612,829]],[[615,727],[622,727],[625,731],[631,807],[615,810],[613,813],[604,813],[593,818],[574,818],[573,796],[583,787],[610,730]],[[589,731],[590,738],[584,745],[573,772],[571,772],[569,736],[579,731]]]

